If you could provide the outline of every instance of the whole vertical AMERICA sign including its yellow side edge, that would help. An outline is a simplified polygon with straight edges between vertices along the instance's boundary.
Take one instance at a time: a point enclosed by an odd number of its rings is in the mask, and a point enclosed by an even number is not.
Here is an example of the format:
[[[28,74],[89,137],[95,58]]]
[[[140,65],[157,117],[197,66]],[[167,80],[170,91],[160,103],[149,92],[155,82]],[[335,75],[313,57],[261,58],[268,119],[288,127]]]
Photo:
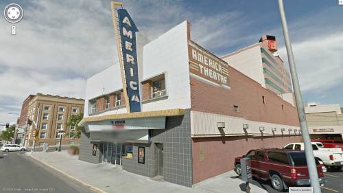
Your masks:
[[[111,2],[119,63],[121,66],[123,93],[126,99],[126,109],[128,110],[128,113],[140,112],[141,99],[139,93],[136,42],[136,32],[138,32],[138,29],[136,25],[134,25],[127,10],[122,8],[118,9],[116,16],[115,6],[118,5],[121,5],[121,3],[115,1]]]

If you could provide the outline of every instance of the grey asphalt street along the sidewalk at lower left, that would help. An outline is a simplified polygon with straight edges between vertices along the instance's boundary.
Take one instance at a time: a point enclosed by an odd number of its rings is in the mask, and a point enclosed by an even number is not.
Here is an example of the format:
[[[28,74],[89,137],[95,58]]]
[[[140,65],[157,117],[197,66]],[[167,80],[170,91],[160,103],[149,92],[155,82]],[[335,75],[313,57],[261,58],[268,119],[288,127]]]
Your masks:
[[[0,192],[93,192],[63,174],[36,163],[24,152],[0,157]]]

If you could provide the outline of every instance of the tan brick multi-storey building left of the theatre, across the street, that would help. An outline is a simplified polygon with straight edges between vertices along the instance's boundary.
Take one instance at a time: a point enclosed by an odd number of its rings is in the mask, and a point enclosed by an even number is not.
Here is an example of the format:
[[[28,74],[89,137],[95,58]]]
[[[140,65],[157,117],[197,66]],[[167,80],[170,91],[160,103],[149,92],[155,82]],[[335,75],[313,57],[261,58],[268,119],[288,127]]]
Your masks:
[[[38,130],[38,140],[35,146],[43,146],[43,143],[49,144],[49,147],[58,146],[60,143],[60,135],[58,132],[64,131],[66,135],[62,135],[62,146],[73,143],[78,143],[78,140],[70,137],[70,132],[75,127],[68,126],[69,117],[71,115],[83,113],[84,100],[77,98],[67,98],[58,95],[44,95],[38,93],[29,95],[23,102],[21,116],[19,117],[19,126],[17,140],[23,144],[24,135],[26,135],[25,146],[32,146],[35,130]],[[37,122],[25,128],[27,120]]]

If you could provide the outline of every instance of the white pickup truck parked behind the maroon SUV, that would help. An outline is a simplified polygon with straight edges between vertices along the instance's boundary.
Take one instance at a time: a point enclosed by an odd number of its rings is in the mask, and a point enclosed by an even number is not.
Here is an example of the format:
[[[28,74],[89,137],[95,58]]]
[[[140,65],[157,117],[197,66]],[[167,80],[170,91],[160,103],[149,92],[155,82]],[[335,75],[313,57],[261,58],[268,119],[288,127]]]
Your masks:
[[[322,161],[331,170],[341,170],[343,166],[343,151],[341,148],[323,148],[320,142],[311,142],[314,157]],[[291,150],[305,150],[303,143],[288,144],[283,147]]]

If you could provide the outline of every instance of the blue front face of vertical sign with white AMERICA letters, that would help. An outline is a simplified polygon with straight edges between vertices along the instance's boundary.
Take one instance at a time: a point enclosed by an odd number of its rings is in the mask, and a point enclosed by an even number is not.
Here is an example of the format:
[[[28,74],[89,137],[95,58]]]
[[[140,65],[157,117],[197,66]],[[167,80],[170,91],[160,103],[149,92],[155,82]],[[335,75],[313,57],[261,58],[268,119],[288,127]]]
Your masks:
[[[130,112],[141,112],[136,45],[136,32],[138,32],[138,29],[127,10],[119,9],[118,19]]]

